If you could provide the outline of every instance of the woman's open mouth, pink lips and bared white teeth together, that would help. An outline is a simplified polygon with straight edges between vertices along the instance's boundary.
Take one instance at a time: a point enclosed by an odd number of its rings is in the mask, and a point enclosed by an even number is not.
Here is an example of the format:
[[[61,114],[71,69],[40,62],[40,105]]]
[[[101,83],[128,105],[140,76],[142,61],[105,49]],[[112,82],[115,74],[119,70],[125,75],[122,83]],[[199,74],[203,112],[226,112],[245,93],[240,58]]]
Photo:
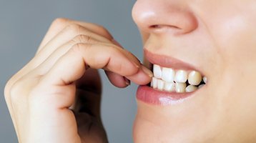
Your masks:
[[[144,49],[154,77],[146,86],[137,90],[137,99],[149,104],[168,105],[184,101],[207,84],[207,77],[202,71],[179,59],[152,54]]]

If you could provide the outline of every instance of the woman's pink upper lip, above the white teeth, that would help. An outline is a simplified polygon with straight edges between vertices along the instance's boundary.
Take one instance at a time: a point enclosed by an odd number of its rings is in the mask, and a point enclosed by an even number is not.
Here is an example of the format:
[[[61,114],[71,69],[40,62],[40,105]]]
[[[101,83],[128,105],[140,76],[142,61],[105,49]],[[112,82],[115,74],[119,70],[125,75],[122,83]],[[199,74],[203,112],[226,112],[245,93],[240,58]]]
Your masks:
[[[195,66],[192,66],[191,64],[188,64],[182,60],[176,59],[172,56],[166,56],[162,54],[153,54],[152,51],[149,51],[144,48],[144,56],[145,58],[151,63],[151,64],[158,64],[162,67],[169,67],[172,69],[183,69],[187,71],[200,71]],[[202,72],[200,71],[202,74]]]

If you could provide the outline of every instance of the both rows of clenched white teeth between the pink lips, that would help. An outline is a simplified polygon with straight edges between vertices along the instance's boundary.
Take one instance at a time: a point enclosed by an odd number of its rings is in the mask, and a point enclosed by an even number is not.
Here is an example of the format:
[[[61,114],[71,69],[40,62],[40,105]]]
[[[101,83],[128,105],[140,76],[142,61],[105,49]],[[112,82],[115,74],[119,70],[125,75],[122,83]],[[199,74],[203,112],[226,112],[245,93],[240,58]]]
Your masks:
[[[161,67],[157,64],[153,66],[154,77],[152,77],[151,87],[165,92],[194,92],[205,86],[207,77],[202,77],[198,71],[177,70]],[[205,83],[202,84],[202,81]]]

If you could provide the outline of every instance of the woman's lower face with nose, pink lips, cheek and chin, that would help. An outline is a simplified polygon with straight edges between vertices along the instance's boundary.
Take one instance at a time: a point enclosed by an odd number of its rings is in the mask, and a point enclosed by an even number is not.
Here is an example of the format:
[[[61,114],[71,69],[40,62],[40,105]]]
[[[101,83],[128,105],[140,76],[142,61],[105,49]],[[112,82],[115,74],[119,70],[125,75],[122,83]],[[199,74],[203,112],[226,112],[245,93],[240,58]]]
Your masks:
[[[132,16],[149,67],[207,77],[190,93],[139,87],[134,142],[255,142],[256,1],[137,0]]]

